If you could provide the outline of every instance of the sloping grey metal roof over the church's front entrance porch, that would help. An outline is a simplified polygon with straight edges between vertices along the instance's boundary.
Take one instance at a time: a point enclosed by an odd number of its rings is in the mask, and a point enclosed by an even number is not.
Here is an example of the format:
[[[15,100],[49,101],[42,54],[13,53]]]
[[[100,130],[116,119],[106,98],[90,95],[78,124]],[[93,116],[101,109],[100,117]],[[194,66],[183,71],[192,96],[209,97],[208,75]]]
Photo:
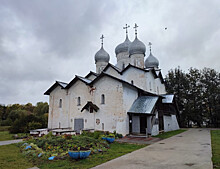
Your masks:
[[[134,101],[128,113],[151,114],[158,98],[158,96],[140,96]]]

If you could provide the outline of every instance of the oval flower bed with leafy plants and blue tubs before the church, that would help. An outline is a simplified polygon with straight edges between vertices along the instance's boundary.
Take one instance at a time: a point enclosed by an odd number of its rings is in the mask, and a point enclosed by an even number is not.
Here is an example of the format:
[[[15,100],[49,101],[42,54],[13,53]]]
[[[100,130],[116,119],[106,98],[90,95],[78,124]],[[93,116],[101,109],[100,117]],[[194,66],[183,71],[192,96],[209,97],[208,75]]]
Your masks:
[[[102,137],[108,139],[103,140]],[[114,134],[103,132],[84,132],[79,136],[53,136],[49,133],[43,137],[30,137],[20,147],[23,154],[33,160],[56,160],[69,156],[73,159],[84,159],[90,154],[106,152],[109,143],[114,139]]]

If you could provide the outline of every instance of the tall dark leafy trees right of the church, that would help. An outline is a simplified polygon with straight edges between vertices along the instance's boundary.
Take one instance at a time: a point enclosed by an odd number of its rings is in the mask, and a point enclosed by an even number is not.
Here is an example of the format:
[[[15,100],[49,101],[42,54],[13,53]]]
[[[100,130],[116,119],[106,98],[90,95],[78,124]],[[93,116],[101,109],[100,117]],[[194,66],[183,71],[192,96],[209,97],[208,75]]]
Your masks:
[[[182,127],[190,122],[220,126],[220,73],[210,68],[190,68],[185,73],[178,67],[168,72],[165,81],[168,93],[176,95]]]

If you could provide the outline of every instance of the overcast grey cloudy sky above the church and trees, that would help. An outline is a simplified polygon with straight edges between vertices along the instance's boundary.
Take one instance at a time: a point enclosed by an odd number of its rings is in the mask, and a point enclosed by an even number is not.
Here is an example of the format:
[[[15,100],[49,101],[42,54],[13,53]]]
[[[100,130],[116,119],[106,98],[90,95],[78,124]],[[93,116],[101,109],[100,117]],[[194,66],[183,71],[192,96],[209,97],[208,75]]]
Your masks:
[[[43,93],[55,80],[95,71],[101,34],[116,64],[126,23],[130,40],[137,23],[138,38],[152,42],[163,75],[177,66],[220,71],[219,0],[0,0],[0,104],[49,101]]]

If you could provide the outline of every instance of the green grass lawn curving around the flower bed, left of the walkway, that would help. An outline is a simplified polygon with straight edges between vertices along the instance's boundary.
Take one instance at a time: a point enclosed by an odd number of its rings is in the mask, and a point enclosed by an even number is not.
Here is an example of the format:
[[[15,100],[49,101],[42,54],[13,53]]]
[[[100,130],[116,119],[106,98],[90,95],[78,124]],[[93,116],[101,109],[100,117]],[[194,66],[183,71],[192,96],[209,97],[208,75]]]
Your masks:
[[[102,164],[111,159],[120,157],[124,154],[130,153],[134,150],[145,147],[146,145],[137,144],[127,144],[127,143],[113,143],[110,145],[110,149],[104,153],[98,153],[90,155],[84,160],[73,160],[68,157],[65,160],[54,160],[54,161],[40,161],[37,160],[35,164],[29,162],[19,150],[16,145],[6,145],[0,146],[0,168],[1,169],[22,169],[33,166],[38,166],[39,168],[91,168]]]

